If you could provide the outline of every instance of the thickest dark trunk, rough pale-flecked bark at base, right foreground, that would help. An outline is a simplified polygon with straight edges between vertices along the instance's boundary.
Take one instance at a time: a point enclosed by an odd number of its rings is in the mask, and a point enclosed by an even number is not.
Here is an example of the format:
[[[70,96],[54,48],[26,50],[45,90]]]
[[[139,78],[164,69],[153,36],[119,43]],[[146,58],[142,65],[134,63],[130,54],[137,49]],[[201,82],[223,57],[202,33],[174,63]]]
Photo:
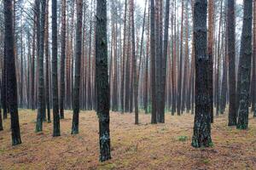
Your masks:
[[[207,147],[212,144],[211,115],[207,101],[207,0],[196,0],[194,10],[195,37],[195,123],[192,146]]]

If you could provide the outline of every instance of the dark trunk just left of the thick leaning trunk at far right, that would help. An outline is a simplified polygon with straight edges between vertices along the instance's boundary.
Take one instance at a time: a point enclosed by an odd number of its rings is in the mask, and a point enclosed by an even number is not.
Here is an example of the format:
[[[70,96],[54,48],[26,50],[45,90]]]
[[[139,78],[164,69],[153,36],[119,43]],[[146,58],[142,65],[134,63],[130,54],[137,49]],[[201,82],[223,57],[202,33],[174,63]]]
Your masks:
[[[228,56],[229,56],[229,86],[230,86],[230,107],[229,126],[236,125],[236,54],[235,54],[235,2],[228,1]]]

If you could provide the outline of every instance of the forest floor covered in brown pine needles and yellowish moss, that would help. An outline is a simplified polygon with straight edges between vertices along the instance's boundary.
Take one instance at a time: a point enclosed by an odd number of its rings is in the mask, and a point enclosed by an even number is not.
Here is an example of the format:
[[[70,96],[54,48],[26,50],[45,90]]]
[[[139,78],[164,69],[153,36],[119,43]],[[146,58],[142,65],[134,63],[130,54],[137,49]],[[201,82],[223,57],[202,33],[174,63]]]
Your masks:
[[[0,169],[256,169],[256,119],[249,129],[227,126],[227,114],[212,126],[210,148],[190,142],[194,116],[166,114],[165,124],[150,124],[150,115],[111,113],[111,161],[99,162],[98,122],[94,111],[81,111],[79,134],[71,135],[72,111],[61,120],[61,137],[52,137],[52,123],[35,133],[36,112],[20,110],[22,144],[11,145],[9,121],[0,132]]]

